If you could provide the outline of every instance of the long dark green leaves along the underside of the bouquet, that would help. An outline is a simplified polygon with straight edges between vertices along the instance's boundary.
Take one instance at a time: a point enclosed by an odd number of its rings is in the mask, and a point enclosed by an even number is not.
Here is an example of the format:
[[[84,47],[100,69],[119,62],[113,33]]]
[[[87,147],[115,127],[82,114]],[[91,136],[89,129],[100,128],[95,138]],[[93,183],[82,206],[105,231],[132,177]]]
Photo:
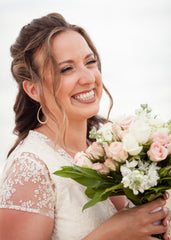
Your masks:
[[[83,206],[83,210],[95,205],[97,202],[106,200],[109,196],[126,195],[135,205],[141,205],[163,197],[166,190],[171,188],[171,176],[168,169],[160,169],[160,180],[158,185],[146,190],[143,194],[135,195],[129,188],[124,188],[121,183],[121,175],[111,172],[110,176],[98,174],[97,171],[79,166],[65,166],[54,174],[72,178],[76,182],[86,186],[85,194],[91,200]]]

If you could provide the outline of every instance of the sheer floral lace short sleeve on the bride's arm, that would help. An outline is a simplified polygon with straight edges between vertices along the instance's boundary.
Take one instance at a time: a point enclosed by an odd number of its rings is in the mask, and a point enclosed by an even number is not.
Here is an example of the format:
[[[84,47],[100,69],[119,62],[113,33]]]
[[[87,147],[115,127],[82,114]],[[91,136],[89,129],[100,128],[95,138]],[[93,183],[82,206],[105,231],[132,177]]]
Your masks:
[[[54,202],[54,186],[45,163],[32,153],[22,153],[0,186],[0,208],[54,218]]]

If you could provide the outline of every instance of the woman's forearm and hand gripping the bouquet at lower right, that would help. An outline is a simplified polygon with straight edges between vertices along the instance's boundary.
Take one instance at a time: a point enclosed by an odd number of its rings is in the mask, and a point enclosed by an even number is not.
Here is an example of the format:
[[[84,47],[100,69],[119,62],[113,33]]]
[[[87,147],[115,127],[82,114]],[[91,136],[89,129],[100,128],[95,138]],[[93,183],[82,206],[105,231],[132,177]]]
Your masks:
[[[152,237],[153,234],[166,234],[168,230],[168,227],[163,224],[153,224],[167,218],[168,213],[163,209],[165,204],[166,200],[159,198],[150,203],[117,212],[82,240],[157,240]],[[159,207],[161,207],[160,211],[151,213]]]

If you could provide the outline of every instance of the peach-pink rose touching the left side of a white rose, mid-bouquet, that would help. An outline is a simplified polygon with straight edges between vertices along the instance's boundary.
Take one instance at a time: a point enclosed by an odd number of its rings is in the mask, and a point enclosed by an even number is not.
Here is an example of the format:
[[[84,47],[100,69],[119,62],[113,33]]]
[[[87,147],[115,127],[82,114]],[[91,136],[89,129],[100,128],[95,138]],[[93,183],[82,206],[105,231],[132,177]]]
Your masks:
[[[108,158],[112,158],[117,162],[125,162],[128,158],[128,153],[123,149],[122,142],[112,142],[110,146],[104,143],[103,146]]]

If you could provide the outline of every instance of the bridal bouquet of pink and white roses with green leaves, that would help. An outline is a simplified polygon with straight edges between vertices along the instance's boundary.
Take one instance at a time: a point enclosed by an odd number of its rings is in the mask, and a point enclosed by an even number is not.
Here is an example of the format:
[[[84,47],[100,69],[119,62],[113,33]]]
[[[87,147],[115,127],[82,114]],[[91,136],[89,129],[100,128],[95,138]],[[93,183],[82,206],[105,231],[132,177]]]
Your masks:
[[[171,121],[153,116],[147,104],[93,128],[90,138],[94,142],[75,155],[74,166],[55,172],[86,186],[90,201],[83,209],[117,195],[141,205],[171,189]]]

